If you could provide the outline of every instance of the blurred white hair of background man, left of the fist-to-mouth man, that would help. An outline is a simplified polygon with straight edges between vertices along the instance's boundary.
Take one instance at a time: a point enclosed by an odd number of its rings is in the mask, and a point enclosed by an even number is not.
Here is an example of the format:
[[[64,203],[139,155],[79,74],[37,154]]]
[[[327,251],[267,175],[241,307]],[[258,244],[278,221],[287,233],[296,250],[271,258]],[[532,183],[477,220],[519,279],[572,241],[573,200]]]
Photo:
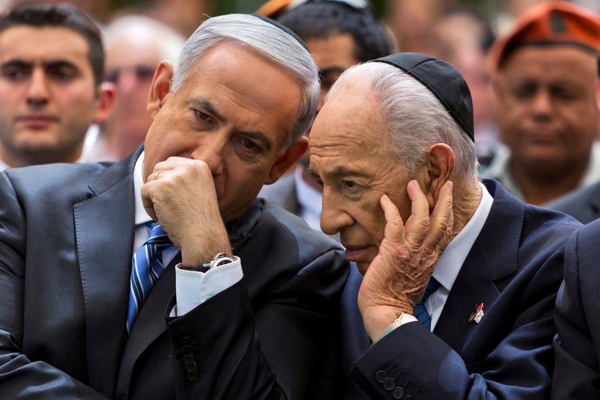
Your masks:
[[[172,27],[142,15],[121,16],[111,21],[103,31],[107,49],[124,36],[140,37],[156,43],[160,58],[172,63],[186,43],[186,38]]]

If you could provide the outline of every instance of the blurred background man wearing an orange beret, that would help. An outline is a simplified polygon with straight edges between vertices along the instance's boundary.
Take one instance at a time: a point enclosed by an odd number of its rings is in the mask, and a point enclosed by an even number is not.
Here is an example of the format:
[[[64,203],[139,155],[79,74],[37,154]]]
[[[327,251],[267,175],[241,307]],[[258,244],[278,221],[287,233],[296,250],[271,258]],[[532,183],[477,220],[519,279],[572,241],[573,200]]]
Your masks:
[[[600,179],[600,16],[578,5],[533,7],[494,43],[500,139],[484,174],[545,205]]]

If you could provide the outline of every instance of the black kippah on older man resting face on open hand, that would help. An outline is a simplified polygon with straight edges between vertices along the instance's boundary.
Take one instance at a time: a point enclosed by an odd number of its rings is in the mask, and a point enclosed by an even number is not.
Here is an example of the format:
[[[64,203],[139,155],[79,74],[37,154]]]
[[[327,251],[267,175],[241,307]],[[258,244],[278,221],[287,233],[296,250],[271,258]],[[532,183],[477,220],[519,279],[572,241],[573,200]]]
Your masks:
[[[456,68],[427,54],[408,52],[392,54],[369,62],[393,65],[419,80],[434,93],[452,118],[475,142],[471,91]]]

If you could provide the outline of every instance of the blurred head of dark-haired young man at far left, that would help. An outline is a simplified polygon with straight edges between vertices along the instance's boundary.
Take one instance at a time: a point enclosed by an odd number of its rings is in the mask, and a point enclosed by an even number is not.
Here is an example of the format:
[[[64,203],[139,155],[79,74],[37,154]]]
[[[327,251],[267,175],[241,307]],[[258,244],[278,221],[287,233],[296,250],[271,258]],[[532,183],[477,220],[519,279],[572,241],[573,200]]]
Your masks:
[[[90,124],[107,116],[88,53],[65,27],[0,34],[0,158],[9,166],[78,160]]]

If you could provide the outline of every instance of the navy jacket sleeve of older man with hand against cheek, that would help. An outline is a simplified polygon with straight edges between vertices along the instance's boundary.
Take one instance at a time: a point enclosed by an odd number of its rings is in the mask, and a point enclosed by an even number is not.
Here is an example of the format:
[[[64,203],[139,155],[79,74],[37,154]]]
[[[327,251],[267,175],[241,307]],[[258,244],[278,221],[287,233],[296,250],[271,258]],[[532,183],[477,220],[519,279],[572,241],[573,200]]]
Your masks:
[[[469,339],[469,346],[481,349],[469,356],[476,361],[465,363],[463,354],[412,322],[371,347],[357,360],[351,377],[372,399],[393,399],[395,388],[412,399],[547,398],[563,249],[529,274],[520,272],[500,293],[485,314],[485,329],[480,326]],[[465,323],[456,318],[456,324]]]

